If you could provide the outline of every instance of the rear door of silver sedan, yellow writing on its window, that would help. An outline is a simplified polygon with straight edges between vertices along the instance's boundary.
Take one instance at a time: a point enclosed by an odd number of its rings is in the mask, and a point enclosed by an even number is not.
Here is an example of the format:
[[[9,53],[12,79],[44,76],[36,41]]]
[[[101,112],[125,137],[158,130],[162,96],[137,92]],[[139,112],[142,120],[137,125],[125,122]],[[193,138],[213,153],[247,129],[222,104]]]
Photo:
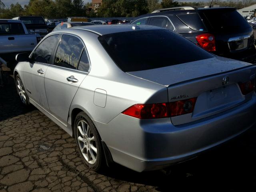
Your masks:
[[[82,64],[84,57],[87,57],[84,47],[80,38],[62,35],[53,64],[48,67],[44,79],[50,112],[65,125],[70,104],[90,68],[89,62]],[[84,63],[87,63],[87,67],[82,67]]]

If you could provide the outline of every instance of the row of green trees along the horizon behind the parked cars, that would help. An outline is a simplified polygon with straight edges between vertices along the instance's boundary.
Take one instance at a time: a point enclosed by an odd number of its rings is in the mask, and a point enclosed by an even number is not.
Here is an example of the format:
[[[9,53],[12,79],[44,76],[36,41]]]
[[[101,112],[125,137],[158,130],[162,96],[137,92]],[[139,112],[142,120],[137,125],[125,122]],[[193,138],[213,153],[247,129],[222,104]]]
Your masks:
[[[10,19],[20,14],[40,14],[45,18],[66,18],[68,16],[87,17],[136,17],[160,8],[176,6],[203,6],[209,2],[178,2],[176,0],[103,0],[94,12],[92,3],[83,0],[30,0],[21,6],[18,2],[6,7],[0,0],[0,18]],[[212,4],[235,7],[237,9],[256,4],[256,0],[213,0]]]

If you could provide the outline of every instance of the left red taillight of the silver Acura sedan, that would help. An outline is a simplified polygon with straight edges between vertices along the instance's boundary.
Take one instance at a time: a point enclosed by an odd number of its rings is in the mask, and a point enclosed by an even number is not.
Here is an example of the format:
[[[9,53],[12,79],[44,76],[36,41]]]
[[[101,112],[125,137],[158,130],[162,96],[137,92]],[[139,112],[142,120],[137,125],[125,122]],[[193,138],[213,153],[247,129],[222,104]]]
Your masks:
[[[174,117],[192,113],[196,104],[196,98],[156,104],[135,104],[124,110],[122,114],[139,119],[156,119]]]

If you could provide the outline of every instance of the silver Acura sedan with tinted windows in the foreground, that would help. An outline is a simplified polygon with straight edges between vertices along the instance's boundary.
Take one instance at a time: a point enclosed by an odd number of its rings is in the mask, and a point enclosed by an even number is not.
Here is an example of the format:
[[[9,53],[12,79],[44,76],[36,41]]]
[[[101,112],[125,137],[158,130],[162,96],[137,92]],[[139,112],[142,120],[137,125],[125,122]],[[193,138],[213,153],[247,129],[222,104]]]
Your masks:
[[[256,67],[170,30],[86,26],[18,54],[18,94],[76,139],[92,170],[156,170],[198,156],[256,121]]]

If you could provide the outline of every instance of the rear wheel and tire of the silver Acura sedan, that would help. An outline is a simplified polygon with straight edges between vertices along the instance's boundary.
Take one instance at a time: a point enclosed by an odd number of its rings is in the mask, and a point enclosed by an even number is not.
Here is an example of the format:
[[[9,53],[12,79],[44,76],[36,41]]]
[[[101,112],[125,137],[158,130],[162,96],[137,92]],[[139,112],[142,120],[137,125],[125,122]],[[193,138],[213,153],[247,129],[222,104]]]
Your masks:
[[[106,160],[101,138],[94,123],[85,112],[80,112],[76,116],[74,136],[80,157],[88,168],[94,171],[103,170]]]

